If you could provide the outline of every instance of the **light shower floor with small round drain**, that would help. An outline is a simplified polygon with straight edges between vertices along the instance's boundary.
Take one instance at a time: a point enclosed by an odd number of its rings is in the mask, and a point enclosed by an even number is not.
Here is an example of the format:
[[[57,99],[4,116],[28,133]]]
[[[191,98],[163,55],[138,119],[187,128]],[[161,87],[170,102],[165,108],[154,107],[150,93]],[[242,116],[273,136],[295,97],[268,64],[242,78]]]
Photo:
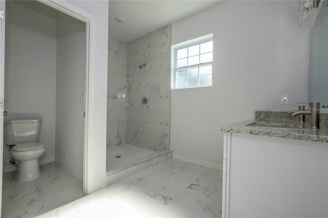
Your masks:
[[[165,155],[170,150],[154,151],[130,144],[122,144],[107,149],[106,174],[127,169],[153,158]]]

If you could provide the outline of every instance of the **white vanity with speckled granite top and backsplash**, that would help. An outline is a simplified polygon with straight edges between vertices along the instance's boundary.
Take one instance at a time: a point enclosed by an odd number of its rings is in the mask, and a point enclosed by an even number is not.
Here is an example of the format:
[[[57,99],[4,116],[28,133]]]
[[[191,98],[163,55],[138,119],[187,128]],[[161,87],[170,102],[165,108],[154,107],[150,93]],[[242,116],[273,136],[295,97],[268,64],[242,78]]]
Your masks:
[[[328,114],[320,121],[257,111],[222,127],[222,217],[328,217]]]

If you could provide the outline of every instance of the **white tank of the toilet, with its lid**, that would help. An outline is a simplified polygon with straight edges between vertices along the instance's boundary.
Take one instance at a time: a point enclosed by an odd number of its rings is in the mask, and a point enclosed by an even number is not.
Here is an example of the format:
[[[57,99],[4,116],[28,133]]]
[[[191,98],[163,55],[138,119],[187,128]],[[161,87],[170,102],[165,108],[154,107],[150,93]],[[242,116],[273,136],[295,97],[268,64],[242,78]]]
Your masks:
[[[6,145],[38,142],[42,119],[11,119],[4,121]]]

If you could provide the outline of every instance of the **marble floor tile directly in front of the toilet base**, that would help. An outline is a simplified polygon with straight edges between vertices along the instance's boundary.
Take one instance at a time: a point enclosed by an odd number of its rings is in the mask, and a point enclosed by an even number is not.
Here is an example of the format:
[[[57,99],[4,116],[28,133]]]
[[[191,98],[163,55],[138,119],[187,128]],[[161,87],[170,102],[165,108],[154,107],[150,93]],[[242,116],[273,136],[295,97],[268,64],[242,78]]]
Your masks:
[[[44,177],[27,182],[15,182],[16,188],[23,201],[42,196],[45,193],[56,191],[56,188]]]

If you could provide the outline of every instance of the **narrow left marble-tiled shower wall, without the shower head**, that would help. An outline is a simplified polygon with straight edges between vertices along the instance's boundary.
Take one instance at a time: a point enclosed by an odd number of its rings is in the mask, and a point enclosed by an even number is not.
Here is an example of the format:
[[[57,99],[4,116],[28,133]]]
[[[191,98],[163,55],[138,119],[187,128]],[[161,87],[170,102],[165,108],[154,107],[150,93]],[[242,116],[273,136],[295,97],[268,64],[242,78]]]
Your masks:
[[[107,147],[126,143],[127,49],[126,42],[109,36],[107,87]]]

